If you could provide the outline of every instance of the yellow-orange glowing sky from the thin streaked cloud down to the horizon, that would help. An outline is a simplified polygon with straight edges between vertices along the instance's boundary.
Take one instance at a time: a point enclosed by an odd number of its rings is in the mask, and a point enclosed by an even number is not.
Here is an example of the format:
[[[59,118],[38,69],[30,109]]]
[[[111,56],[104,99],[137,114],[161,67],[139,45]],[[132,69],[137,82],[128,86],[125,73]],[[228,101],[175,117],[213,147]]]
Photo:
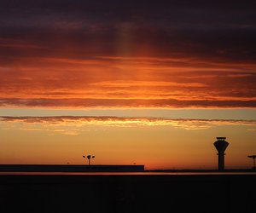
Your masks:
[[[228,136],[228,168],[248,168],[255,121],[165,118],[2,118],[0,164],[145,164],[148,169],[216,168],[212,145]],[[254,150],[254,151],[253,151]],[[86,162],[85,162],[86,163]]]

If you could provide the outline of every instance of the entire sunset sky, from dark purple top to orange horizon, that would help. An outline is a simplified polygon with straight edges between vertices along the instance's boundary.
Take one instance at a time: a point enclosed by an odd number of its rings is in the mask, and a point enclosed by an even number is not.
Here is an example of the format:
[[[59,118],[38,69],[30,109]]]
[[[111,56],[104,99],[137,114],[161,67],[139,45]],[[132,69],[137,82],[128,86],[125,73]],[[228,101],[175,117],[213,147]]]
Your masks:
[[[0,2],[0,164],[252,166],[255,1]]]

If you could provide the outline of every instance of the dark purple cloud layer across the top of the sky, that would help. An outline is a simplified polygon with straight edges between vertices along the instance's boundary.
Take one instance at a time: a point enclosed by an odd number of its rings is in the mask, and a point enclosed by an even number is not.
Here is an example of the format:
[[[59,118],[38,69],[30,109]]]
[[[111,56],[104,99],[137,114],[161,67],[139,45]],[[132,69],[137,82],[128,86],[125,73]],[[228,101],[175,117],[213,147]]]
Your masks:
[[[256,57],[254,1],[1,3],[1,37],[45,48],[40,51],[28,48],[25,55],[31,57],[181,54],[218,60]],[[122,37],[125,34],[129,38]],[[120,51],[122,39],[126,49]],[[2,45],[2,56],[24,54],[24,49],[11,44],[10,41]],[[142,50],[149,48],[151,52]]]

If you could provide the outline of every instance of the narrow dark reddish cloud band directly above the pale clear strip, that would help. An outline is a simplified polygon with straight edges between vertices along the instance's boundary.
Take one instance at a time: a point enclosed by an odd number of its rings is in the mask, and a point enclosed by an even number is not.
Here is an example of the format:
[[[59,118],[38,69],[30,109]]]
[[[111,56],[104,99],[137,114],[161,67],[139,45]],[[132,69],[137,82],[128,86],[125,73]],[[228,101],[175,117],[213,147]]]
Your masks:
[[[0,107],[248,107],[255,108],[256,101],[180,101],[162,100],[125,100],[125,99],[0,99]]]

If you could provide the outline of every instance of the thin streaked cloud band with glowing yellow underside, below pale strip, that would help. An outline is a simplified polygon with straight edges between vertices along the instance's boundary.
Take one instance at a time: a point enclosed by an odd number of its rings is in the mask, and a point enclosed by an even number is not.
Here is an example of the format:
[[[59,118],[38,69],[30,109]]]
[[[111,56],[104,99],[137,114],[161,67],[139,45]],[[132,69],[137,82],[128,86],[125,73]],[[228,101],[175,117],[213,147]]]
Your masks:
[[[240,125],[248,130],[256,128],[256,120],[207,120],[169,118],[121,118],[121,117],[1,117],[0,124],[5,128],[18,130],[46,131],[54,134],[79,135],[86,131],[104,127],[137,128],[172,127],[183,130],[207,130],[216,126]],[[20,125],[17,125],[20,124]]]

